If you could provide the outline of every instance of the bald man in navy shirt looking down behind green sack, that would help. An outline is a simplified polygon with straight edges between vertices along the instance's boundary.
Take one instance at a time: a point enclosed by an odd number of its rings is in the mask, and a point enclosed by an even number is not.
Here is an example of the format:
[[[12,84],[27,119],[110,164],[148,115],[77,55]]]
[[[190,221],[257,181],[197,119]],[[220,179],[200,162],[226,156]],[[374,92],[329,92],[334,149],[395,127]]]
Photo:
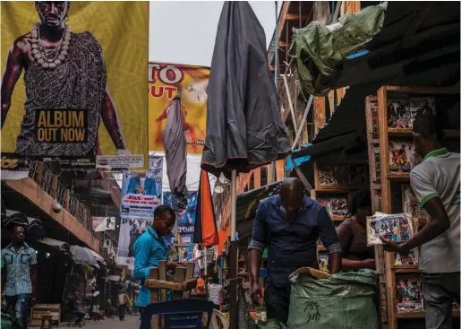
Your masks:
[[[289,275],[301,267],[319,268],[317,240],[329,251],[330,273],[341,270],[341,246],[329,213],[303,194],[298,178],[286,178],[280,194],[260,203],[254,220],[250,253],[252,299],[260,302],[258,281],[262,252],[268,247],[268,281],[264,300],[268,318],[286,324],[290,304]]]

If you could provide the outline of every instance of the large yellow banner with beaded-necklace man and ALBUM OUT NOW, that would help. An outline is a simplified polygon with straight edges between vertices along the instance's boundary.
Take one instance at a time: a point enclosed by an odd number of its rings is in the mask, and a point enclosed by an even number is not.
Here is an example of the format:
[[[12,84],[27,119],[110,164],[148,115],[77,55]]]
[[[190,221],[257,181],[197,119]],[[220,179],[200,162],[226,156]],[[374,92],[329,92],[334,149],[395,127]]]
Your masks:
[[[149,2],[1,3],[2,152],[147,161]]]

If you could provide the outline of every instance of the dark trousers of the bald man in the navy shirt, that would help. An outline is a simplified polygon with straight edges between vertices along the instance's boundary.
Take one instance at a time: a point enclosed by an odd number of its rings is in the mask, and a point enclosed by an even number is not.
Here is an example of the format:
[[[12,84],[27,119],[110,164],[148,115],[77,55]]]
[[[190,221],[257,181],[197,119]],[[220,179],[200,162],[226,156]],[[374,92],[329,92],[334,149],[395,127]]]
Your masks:
[[[286,325],[290,309],[291,286],[276,287],[268,280],[264,290],[264,303],[268,319],[276,319]]]

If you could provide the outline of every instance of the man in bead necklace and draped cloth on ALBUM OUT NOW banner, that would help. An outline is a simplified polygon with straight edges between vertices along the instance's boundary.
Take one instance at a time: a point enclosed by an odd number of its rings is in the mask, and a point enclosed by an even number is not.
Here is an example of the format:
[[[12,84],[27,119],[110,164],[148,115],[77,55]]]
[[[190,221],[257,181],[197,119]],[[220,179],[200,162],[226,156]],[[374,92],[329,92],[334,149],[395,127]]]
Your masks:
[[[1,126],[11,107],[16,82],[24,70],[27,100],[16,153],[29,156],[100,154],[101,119],[118,152],[125,153],[115,104],[107,89],[102,49],[90,32],[71,32],[66,24],[70,6],[69,1],[35,2],[40,22],[16,39],[8,53],[1,87]],[[47,127],[41,136],[40,123]],[[72,130],[69,126],[75,123],[81,129],[81,138],[67,135],[67,131]],[[60,134],[60,130],[56,133],[56,126],[65,127],[66,134]]]

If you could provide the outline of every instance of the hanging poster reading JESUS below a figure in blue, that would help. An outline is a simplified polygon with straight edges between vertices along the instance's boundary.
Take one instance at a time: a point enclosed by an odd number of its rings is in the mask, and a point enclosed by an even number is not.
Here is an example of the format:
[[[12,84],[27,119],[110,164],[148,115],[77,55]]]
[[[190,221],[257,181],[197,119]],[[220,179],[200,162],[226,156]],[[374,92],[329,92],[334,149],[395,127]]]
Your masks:
[[[162,200],[163,158],[149,157],[149,170],[124,171],[120,216],[127,218],[154,218],[154,211]]]

